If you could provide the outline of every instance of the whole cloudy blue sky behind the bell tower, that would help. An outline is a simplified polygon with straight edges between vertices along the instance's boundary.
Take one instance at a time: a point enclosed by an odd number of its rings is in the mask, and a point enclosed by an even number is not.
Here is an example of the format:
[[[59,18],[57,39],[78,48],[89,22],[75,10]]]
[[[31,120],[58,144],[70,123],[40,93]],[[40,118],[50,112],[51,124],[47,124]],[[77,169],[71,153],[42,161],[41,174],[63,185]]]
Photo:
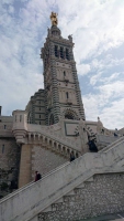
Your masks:
[[[0,105],[2,115],[24,109],[43,88],[41,48],[49,14],[64,38],[72,34],[88,120],[124,127],[124,0],[1,0]]]

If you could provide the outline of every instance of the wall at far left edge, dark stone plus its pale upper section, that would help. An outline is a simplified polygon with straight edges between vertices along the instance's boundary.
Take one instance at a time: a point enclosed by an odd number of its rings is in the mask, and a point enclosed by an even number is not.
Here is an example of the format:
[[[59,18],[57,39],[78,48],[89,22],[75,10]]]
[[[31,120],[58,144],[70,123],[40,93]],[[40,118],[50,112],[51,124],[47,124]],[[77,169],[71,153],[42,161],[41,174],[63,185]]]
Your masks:
[[[0,198],[18,188],[20,147],[12,134],[12,116],[0,116]]]

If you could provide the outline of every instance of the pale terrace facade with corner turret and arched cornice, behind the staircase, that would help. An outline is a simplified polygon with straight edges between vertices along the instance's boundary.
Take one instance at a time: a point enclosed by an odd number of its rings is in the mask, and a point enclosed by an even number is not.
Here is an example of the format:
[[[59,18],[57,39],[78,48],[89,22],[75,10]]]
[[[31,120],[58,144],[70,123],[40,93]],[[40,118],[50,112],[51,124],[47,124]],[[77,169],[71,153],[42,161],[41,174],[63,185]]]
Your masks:
[[[19,187],[34,180],[36,170],[45,175],[60,164],[63,165],[69,160],[71,152],[74,152],[75,158],[88,152],[88,139],[98,138],[95,135],[98,124],[92,123],[92,129],[90,124],[81,119],[64,118],[49,126],[27,124],[26,112],[14,110],[12,130],[16,143],[22,146]],[[115,139],[114,136],[108,139],[102,134],[98,140],[104,146],[104,144],[110,144]],[[91,149],[91,151],[99,149]]]

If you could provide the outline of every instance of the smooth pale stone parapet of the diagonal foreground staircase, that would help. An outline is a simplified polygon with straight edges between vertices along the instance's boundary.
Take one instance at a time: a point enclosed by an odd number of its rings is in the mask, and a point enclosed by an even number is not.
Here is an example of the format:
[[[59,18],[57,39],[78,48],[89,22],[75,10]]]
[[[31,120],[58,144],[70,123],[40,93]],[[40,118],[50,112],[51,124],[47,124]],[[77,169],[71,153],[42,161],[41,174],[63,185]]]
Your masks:
[[[84,154],[71,164],[56,168],[42,180],[30,183],[3,198],[0,201],[0,220],[35,221],[37,215],[42,220],[44,218],[41,212],[52,212],[53,208],[58,207],[56,203],[64,202],[64,196],[76,193],[76,189],[83,188],[83,183],[91,181],[93,175],[124,172],[124,168],[113,167],[116,160],[119,162],[123,159],[124,139],[114,144],[108,151]]]

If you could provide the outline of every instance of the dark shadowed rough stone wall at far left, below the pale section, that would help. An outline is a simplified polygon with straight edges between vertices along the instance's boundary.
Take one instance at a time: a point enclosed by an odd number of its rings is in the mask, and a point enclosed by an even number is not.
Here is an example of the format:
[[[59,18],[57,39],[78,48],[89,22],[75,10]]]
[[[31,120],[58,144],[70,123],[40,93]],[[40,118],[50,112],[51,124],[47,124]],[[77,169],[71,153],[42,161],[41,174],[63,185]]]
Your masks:
[[[0,197],[18,188],[20,147],[14,138],[0,139]]]

